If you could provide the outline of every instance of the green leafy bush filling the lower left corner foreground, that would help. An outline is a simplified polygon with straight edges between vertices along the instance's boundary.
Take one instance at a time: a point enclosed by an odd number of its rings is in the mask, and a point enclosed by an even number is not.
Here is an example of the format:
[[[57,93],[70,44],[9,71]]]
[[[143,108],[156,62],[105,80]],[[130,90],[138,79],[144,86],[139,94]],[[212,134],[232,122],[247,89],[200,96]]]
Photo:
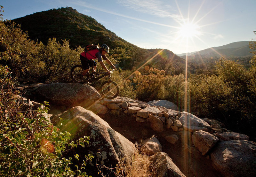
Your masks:
[[[0,66],[1,73],[6,71]],[[62,157],[62,152],[84,146],[89,143],[89,137],[70,142],[70,133],[61,132],[42,116],[48,111],[48,103],[31,110],[29,103],[19,104],[19,97],[12,92],[12,85],[2,74],[0,81],[5,81],[4,89],[0,89],[1,176],[87,176],[84,166],[93,156],[85,156],[87,161],[77,166],[71,157]],[[79,156],[76,154],[74,158]],[[73,171],[71,166],[76,170]]]

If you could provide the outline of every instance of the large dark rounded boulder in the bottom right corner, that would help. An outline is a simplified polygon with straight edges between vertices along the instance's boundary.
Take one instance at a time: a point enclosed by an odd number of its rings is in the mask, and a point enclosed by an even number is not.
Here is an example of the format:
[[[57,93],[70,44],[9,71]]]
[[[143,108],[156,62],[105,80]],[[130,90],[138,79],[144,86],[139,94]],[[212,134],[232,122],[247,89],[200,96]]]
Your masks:
[[[220,142],[211,153],[212,164],[223,176],[256,176],[256,143],[247,140]]]

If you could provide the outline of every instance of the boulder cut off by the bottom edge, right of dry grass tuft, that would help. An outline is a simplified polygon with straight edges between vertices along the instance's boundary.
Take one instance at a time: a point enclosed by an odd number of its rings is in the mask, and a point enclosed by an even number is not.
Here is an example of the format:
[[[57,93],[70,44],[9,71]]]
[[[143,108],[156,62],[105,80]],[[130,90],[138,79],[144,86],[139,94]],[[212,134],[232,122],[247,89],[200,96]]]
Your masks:
[[[172,159],[164,152],[157,152],[155,155],[150,156],[149,160],[153,163],[155,167],[155,176],[158,177],[185,177],[181,173],[178,166],[176,166]]]

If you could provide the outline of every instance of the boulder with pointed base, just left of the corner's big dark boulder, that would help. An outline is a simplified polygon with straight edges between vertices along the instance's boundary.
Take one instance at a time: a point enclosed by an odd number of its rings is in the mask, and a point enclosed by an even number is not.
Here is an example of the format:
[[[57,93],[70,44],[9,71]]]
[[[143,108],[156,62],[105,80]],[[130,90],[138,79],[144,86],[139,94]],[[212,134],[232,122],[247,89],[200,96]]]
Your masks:
[[[219,141],[219,139],[203,130],[196,131],[192,135],[192,142],[195,147],[205,155],[212,147]]]

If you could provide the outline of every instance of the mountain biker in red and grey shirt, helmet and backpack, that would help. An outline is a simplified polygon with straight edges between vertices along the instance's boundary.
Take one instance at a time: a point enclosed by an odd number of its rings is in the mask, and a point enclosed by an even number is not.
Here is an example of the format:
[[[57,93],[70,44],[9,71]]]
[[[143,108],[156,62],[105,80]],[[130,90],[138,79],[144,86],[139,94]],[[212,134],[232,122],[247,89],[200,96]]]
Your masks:
[[[100,65],[108,73],[110,73],[110,71],[108,70],[106,65],[103,63],[102,58],[109,65],[111,65],[113,69],[115,69],[116,66],[114,66],[112,64],[112,62],[106,57],[106,53],[108,53],[108,52],[109,52],[109,47],[106,44],[103,44],[100,48],[89,50],[87,52],[85,52],[85,51],[82,52],[81,55],[80,55],[80,60],[81,60],[82,66],[83,66],[83,73],[82,73],[82,75],[89,74],[90,66],[92,67],[93,64],[94,64],[93,70],[94,70],[94,72],[96,72],[97,63],[92,60],[92,59],[96,59],[96,58],[98,58],[98,61],[100,62]]]

